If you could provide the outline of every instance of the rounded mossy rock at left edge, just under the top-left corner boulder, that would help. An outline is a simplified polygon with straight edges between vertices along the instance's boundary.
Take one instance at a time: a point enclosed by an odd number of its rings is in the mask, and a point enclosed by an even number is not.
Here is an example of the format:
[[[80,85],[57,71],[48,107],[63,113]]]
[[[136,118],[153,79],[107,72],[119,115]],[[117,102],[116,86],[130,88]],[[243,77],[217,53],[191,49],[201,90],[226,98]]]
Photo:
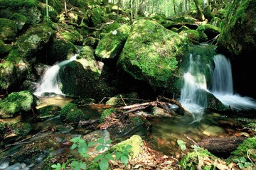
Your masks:
[[[12,42],[15,40],[17,32],[18,28],[14,21],[0,18],[0,40]]]

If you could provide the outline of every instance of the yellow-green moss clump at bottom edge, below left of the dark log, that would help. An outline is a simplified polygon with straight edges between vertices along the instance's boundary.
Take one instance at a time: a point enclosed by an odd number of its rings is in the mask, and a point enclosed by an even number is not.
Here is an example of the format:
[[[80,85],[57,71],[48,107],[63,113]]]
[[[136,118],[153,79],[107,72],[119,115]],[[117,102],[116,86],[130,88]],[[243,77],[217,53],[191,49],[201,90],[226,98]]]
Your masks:
[[[210,160],[216,159],[216,157],[213,154],[210,154],[206,149],[201,149],[198,152],[189,152],[178,164],[181,165],[181,169],[198,169],[198,157],[208,157]],[[215,169],[214,165],[203,164],[202,166],[200,169]]]

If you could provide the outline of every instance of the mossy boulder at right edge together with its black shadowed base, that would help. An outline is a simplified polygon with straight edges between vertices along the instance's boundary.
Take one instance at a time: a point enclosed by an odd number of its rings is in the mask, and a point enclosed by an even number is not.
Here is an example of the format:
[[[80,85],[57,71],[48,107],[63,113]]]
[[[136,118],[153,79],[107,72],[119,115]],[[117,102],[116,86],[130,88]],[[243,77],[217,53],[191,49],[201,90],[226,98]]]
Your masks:
[[[218,51],[230,57],[234,90],[242,96],[256,98],[256,1],[235,0],[230,3],[218,38]]]

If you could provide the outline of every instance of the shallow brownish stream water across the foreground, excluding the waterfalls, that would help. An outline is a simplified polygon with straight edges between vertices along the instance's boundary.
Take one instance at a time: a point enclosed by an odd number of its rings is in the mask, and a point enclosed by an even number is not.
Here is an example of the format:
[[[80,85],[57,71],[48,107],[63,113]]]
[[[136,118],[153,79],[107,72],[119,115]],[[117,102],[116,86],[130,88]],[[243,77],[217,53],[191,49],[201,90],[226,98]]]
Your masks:
[[[66,103],[73,100],[72,98],[62,96],[41,99],[43,103],[41,106],[38,106],[38,108],[48,104],[63,107]],[[82,107],[82,111],[90,115],[92,120],[99,119],[100,114],[104,110],[105,108],[103,107]],[[201,115],[201,118],[196,119],[196,121],[195,118],[187,115],[170,118],[149,118],[148,121],[151,123],[151,130],[139,126],[125,136],[118,137],[117,139],[114,138],[115,135],[112,134],[112,132],[108,132],[108,130],[95,131],[100,131],[100,135],[103,135],[105,139],[111,139],[114,142],[127,139],[127,137],[131,135],[140,135],[145,141],[149,142],[154,149],[166,155],[173,155],[181,152],[181,149],[177,145],[177,140],[191,143],[191,140],[201,142],[201,140],[210,137],[249,137],[250,132],[241,130],[242,125],[255,120],[205,112]],[[26,137],[14,140],[15,137],[10,136],[1,141],[0,169],[6,169],[8,167],[13,168],[7,166],[7,164],[11,162],[11,157],[15,157],[18,152],[21,152],[20,149],[23,149],[23,146],[33,145],[33,143],[36,143],[35,141],[42,142],[41,145],[44,145],[42,149],[48,150],[47,147],[55,148],[55,151],[52,151],[54,154],[68,154],[71,152],[69,149],[69,140],[71,138],[77,135],[88,134],[92,131],[93,128],[90,129],[80,125],[74,126],[65,124],[60,119],[59,115],[44,121],[38,121],[33,125],[33,130],[31,130]],[[188,140],[188,137],[190,140]],[[24,160],[25,163],[23,166],[27,169],[34,169],[35,167],[40,169],[42,166],[41,162],[46,158],[46,155],[47,154],[44,152],[38,154],[38,158],[33,164],[26,164],[26,160]],[[17,166],[21,166],[21,164]]]

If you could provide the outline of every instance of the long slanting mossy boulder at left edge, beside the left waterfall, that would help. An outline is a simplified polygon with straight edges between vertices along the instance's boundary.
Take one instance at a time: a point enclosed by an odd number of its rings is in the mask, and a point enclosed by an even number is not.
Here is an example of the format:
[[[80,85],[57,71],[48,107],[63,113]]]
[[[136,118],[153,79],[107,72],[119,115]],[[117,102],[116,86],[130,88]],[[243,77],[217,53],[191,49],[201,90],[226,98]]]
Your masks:
[[[0,90],[18,91],[28,77],[28,71],[36,60],[38,52],[52,40],[55,31],[40,23],[21,35],[5,62],[0,63]]]

